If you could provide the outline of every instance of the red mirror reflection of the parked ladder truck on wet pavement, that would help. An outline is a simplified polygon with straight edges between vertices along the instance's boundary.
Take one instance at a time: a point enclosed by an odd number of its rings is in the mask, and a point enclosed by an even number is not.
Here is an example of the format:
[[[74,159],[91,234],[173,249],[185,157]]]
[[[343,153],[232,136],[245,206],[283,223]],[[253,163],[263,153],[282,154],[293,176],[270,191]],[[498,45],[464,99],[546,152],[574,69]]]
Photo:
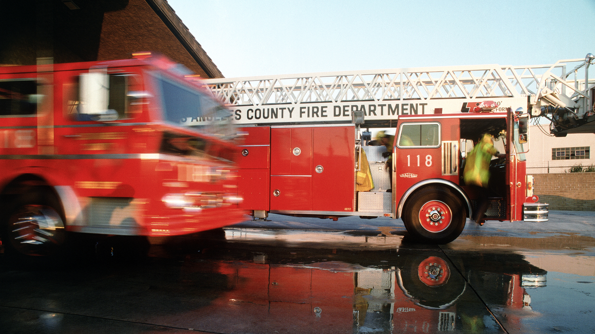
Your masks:
[[[506,316],[506,323],[516,326],[533,314],[523,285],[545,285],[546,272],[514,253],[481,254],[480,261],[468,261],[478,254],[456,252],[449,254],[453,264],[439,250],[246,244],[239,250],[236,245],[227,245],[226,259],[208,266],[226,275],[228,290],[201,308],[201,314],[208,314],[202,330],[252,332],[256,326],[258,332],[280,333],[503,332],[469,283],[477,284],[490,308],[523,310],[506,312],[516,314],[518,319]],[[191,267],[200,270],[205,260],[215,260],[208,257],[207,252]],[[513,265],[505,269],[503,262]]]

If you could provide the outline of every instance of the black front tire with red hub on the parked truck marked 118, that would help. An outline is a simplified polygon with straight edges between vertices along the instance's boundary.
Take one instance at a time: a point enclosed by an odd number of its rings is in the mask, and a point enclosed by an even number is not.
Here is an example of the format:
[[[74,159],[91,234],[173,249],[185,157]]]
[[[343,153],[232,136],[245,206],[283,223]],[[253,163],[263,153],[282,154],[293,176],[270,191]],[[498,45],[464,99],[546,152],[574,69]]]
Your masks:
[[[447,244],[465,228],[466,210],[461,199],[447,188],[427,187],[407,200],[402,219],[416,241]]]

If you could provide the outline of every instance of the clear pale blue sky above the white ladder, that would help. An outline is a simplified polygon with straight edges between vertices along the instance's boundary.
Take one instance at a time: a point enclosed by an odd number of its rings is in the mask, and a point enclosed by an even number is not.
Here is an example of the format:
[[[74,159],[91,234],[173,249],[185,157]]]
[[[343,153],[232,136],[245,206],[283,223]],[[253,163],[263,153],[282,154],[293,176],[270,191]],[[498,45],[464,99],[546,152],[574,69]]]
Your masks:
[[[595,53],[595,0],[168,0],[225,77]]]

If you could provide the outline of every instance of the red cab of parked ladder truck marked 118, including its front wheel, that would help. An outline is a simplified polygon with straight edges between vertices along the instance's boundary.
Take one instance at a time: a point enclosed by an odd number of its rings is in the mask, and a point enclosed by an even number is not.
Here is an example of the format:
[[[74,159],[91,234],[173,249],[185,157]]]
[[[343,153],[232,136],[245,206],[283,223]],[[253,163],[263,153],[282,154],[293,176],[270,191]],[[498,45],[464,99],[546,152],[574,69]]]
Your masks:
[[[466,218],[473,217],[477,188],[465,184],[463,175],[466,155],[484,133],[493,136],[494,147],[506,155],[490,162],[486,220],[524,220],[523,203],[529,207],[537,201],[527,187],[524,150],[518,138],[511,138],[518,134],[512,112],[402,116],[397,126],[395,210],[416,237],[450,242],[461,234]]]

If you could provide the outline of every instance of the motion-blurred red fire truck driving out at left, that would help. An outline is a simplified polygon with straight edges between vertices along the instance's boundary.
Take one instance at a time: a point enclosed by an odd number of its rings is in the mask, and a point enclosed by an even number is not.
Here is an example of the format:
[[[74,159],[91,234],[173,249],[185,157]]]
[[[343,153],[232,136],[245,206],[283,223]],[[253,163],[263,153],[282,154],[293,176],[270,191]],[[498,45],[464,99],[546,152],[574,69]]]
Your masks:
[[[167,236],[243,220],[230,113],[163,56],[0,67],[0,118],[8,252],[56,254],[70,232]]]

